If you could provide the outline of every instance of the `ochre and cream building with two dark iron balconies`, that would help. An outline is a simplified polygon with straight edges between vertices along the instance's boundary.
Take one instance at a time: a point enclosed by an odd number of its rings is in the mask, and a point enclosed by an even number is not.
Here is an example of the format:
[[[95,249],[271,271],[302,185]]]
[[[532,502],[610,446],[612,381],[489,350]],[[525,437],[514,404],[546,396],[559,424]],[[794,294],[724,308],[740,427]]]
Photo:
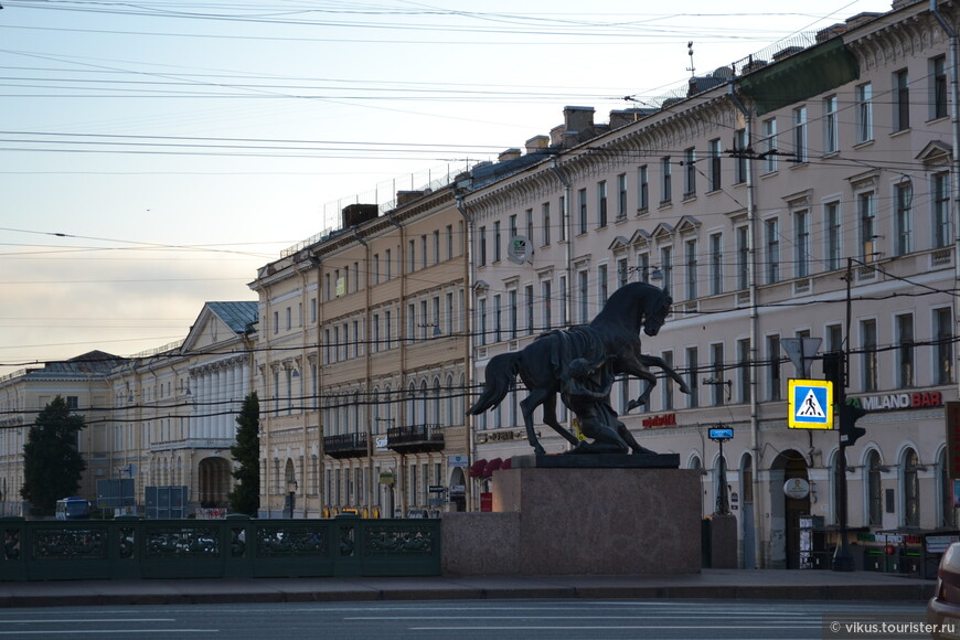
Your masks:
[[[402,192],[259,270],[263,515],[466,506],[466,246],[450,189]]]

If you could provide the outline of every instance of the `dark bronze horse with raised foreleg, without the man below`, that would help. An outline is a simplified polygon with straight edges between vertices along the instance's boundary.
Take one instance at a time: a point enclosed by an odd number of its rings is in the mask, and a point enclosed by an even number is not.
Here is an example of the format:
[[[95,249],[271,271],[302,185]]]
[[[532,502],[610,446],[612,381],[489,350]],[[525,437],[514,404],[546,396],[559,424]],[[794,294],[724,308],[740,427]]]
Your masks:
[[[520,402],[526,438],[538,456],[545,455],[533,429],[533,412],[543,406],[543,422],[573,445],[576,436],[561,426],[556,418],[556,395],[568,377],[567,365],[574,358],[598,361],[610,358],[615,373],[625,373],[647,382],[647,388],[630,401],[627,410],[647,404],[657,376],[650,366],[662,369],[680,384],[682,393],[690,393],[683,378],[662,358],[644,355],[640,351],[640,330],[657,335],[673,299],[659,287],[647,282],[630,282],[617,289],[604,309],[587,326],[569,330],[550,331],[536,338],[523,350],[502,353],[487,363],[483,393],[467,414],[479,415],[501,403],[513,386],[516,375],[530,395]]]

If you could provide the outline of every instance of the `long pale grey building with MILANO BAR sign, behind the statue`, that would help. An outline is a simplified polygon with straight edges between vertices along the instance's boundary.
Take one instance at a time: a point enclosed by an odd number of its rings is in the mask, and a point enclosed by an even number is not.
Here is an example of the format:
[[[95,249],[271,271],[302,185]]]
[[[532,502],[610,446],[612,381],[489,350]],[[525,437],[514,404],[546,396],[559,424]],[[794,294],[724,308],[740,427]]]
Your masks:
[[[957,29],[954,3],[938,12]],[[588,322],[622,284],[654,281],[674,308],[644,351],[693,392],[661,378],[646,410],[628,414],[640,387],[620,381],[611,401],[642,445],[704,470],[704,514],[726,478],[745,566],[797,566],[801,516],[822,518],[828,533],[839,524],[838,434],[788,428],[788,381],[800,376],[785,339],[847,354],[847,396],[870,410],[846,449],[849,524],[871,535],[954,527],[949,50],[927,3],[897,3],[692,78],[686,95],[615,111],[609,125],[568,107],[553,153],[534,138],[532,161],[465,182],[474,377],[542,331]],[[530,451],[523,396],[474,420],[479,467]],[[717,425],[735,434],[723,459],[708,438]],[[537,429],[548,450],[565,449]],[[806,497],[785,494],[792,479]]]

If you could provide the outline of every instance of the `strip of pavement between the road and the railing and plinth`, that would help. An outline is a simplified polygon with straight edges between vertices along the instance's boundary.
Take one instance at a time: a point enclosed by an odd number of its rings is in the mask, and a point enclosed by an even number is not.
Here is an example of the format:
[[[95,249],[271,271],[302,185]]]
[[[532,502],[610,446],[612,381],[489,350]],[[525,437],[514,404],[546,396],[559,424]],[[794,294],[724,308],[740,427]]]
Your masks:
[[[472,599],[914,600],[935,580],[873,572],[703,569],[686,575],[441,576],[0,583],[0,608]]]

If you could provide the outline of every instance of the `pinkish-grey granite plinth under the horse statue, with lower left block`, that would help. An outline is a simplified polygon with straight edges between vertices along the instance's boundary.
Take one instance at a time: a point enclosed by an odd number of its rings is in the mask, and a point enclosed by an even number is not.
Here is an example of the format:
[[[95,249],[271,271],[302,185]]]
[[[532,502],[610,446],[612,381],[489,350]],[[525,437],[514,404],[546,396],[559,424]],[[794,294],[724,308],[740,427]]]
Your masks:
[[[700,573],[698,473],[616,468],[495,471],[494,513],[444,514],[444,573]]]

